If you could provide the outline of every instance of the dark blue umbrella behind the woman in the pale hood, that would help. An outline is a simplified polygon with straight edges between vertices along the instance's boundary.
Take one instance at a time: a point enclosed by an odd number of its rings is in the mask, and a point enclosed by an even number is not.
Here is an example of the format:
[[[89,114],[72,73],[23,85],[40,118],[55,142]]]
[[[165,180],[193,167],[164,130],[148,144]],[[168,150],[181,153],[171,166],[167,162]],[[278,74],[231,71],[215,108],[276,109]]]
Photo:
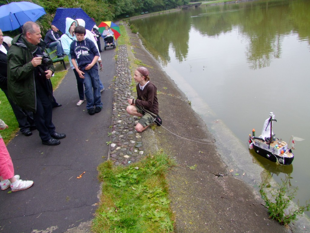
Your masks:
[[[82,19],[85,21],[85,28],[91,30],[95,22],[89,17],[82,8],[57,8],[52,25],[58,28],[62,33],[66,33],[66,18],[73,20]]]

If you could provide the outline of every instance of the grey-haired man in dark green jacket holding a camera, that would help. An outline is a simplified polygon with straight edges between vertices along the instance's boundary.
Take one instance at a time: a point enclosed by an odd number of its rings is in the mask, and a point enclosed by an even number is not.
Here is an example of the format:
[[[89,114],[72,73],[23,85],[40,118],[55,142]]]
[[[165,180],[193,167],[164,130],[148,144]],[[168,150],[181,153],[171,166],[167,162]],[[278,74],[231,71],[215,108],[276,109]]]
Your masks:
[[[52,92],[49,79],[53,64],[42,60],[46,46],[38,24],[28,21],[23,34],[12,40],[8,58],[8,93],[16,105],[33,112],[42,144],[58,145],[65,134],[55,132],[52,123]],[[43,58],[44,59],[44,58]]]

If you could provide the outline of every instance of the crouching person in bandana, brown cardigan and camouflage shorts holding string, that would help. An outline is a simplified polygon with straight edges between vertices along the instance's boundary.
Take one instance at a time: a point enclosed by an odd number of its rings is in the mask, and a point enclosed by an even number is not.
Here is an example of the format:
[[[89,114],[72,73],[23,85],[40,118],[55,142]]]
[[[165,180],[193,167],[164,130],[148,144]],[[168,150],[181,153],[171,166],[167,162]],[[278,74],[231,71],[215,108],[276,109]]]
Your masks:
[[[145,67],[135,70],[134,79],[137,82],[137,99],[128,99],[129,105],[126,111],[133,116],[141,117],[135,130],[142,132],[154,121],[157,125],[162,124],[162,119],[158,116],[157,88],[151,83],[148,77],[149,72]]]

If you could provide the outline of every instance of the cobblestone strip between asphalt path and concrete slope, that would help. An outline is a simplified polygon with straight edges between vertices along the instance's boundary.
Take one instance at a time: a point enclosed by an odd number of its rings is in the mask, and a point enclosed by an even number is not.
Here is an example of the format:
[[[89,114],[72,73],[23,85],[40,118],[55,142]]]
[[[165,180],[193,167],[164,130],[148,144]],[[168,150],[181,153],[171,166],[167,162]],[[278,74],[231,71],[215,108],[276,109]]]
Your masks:
[[[115,165],[127,165],[139,160],[144,151],[141,134],[135,131],[137,117],[126,112],[127,99],[134,98],[131,91],[131,71],[129,68],[126,45],[120,45],[117,51],[115,69],[112,129],[108,159]]]

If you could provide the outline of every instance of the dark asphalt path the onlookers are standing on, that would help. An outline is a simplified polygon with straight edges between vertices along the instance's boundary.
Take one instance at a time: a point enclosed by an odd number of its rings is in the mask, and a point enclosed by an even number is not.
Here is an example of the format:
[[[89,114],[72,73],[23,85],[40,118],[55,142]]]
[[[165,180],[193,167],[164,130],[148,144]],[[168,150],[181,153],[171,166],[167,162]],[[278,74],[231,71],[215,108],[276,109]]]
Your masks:
[[[69,68],[54,91],[62,107],[53,109],[52,118],[56,132],[67,137],[57,146],[42,145],[35,130],[29,137],[19,133],[7,145],[15,174],[34,184],[18,192],[8,193],[10,188],[0,191],[0,232],[64,232],[93,218],[100,193],[97,166],[108,155],[115,54],[112,48],[100,53],[104,72],[99,75],[105,87],[100,113],[89,115],[86,100],[76,105],[76,78]]]

